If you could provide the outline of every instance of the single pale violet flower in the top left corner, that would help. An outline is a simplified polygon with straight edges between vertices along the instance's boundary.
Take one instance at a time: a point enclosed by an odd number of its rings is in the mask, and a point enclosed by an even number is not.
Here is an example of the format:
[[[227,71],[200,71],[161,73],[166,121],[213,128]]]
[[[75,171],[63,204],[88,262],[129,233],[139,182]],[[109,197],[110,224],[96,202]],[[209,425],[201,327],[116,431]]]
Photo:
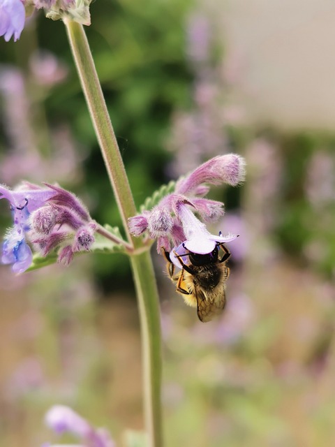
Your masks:
[[[20,0],[0,0],[0,36],[8,42],[12,36],[14,41],[20,38],[24,28],[26,12]]]

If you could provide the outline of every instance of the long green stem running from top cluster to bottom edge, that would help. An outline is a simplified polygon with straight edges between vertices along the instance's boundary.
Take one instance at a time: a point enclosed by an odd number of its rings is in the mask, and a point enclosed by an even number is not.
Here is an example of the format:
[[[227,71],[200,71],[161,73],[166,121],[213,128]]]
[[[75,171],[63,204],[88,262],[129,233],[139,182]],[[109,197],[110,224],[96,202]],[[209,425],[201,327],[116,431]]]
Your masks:
[[[144,247],[142,240],[133,238],[128,230],[128,218],[136,214],[135,204],[87,37],[82,25],[68,20],[64,20],[64,22],[124,229],[128,241],[132,242],[135,249],[131,256],[131,266],[140,313],[145,426],[148,434],[148,447],[162,447],[161,323],[154,268],[149,247]]]

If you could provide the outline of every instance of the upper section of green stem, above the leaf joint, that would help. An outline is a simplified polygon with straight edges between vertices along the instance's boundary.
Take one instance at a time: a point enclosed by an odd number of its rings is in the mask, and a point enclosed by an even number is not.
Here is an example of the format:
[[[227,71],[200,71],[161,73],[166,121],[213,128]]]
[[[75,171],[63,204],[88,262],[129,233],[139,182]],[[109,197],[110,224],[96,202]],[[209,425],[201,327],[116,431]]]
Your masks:
[[[81,24],[70,20],[64,20],[64,23],[94,130],[98,137],[107,173],[114,190],[114,196],[119,206],[124,229],[130,242],[132,238],[128,230],[127,219],[136,214],[135,204],[119,146],[117,145],[117,139],[108,115],[103,91],[96,73],[94,60],[89,49],[87,36]],[[139,240],[133,240],[133,244],[138,246]]]

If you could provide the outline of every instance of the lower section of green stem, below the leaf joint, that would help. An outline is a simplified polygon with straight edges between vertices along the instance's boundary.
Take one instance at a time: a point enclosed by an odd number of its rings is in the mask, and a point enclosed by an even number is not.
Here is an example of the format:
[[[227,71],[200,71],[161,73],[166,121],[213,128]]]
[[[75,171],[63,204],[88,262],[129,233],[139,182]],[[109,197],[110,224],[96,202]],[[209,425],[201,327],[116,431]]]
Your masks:
[[[161,321],[158,291],[149,251],[132,256],[140,312],[144,386],[144,418],[148,447],[162,447],[161,418]]]

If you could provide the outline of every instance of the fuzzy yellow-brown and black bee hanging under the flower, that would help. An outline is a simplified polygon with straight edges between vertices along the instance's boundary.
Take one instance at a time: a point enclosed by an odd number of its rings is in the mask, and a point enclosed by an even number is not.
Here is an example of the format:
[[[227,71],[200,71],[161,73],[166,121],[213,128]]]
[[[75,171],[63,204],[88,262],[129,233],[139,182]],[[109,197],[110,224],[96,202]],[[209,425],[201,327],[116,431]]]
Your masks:
[[[230,251],[221,242],[216,242],[216,247],[209,254],[196,254],[186,249],[184,244],[181,245],[185,249],[183,254],[179,254],[179,248],[172,251],[172,254],[162,249],[163,256],[168,261],[168,274],[186,304],[197,307],[200,321],[211,321],[225,307],[225,284],[230,271],[226,261],[230,257]],[[221,258],[219,249],[224,252]],[[181,265],[181,271],[177,274],[174,273],[172,256]]]

